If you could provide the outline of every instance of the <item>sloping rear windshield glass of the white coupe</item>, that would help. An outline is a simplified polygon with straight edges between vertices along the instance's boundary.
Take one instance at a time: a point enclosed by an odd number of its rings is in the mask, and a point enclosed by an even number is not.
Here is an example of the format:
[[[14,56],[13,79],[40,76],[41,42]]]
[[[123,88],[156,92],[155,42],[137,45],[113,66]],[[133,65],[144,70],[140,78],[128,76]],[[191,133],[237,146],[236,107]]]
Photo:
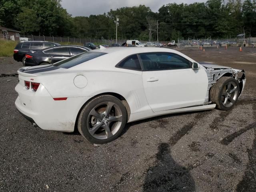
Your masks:
[[[105,55],[105,54],[107,54],[107,53],[104,53],[104,52],[90,52],[90,51],[89,52],[84,52],[84,53],[78,54],[76,56],[70,57],[68,59],[62,60],[60,62],[57,62],[57,63],[53,64],[53,66],[68,69],[70,67],[76,66],[78,64],[81,64],[83,62],[86,62],[88,60],[94,59],[96,57],[99,57],[99,56],[102,56],[102,55]]]

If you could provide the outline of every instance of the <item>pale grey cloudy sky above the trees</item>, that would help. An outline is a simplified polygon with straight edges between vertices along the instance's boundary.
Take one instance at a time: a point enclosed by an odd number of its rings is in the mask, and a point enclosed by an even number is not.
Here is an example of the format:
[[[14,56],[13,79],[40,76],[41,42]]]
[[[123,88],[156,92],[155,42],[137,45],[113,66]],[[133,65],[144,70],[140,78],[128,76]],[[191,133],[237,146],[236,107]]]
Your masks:
[[[103,14],[110,9],[126,6],[138,6],[140,4],[151,8],[153,12],[168,3],[193,3],[206,2],[206,0],[62,0],[62,7],[64,7],[72,16],[90,16],[91,14]]]

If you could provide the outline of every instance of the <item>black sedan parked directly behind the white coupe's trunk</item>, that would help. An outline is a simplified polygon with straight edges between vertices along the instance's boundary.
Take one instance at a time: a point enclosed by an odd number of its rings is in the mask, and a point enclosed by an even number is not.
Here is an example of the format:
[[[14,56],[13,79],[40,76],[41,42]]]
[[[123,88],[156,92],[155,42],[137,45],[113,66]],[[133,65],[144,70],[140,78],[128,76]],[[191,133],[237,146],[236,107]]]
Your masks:
[[[90,48],[77,45],[56,46],[27,53],[24,63],[25,66],[54,64],[58,61],[90,50]]]

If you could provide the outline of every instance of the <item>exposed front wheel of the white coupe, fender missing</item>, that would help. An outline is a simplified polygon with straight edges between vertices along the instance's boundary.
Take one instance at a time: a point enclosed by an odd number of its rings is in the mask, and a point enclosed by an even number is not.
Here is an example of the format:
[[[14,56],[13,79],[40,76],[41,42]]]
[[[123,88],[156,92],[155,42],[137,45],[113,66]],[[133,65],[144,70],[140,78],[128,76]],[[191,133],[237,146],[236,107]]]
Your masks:
[[[220,110],[230,110],[239,97],[238,81],[232,77],[221,77],[210,90],[210,100]]]

